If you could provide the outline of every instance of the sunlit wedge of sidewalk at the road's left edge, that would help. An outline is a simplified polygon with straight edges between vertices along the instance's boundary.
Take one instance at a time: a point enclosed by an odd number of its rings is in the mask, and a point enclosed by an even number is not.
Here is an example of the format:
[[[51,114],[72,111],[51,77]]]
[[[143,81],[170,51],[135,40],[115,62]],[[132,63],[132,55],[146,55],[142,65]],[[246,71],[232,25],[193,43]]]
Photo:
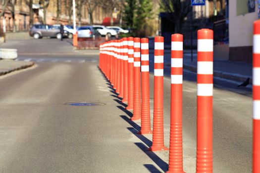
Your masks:
[[[0,60],[0,76],[13,71],[26,69],[34,65],[34,62],[14,61],[14,60]]]

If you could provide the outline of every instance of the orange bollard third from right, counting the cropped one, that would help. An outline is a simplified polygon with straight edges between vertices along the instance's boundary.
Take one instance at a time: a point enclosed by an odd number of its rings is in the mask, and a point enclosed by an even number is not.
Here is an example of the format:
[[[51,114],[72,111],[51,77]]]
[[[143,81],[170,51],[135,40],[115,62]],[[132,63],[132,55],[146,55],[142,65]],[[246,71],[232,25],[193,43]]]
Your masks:
[[[167,173],[184,173],[182,156],[182,67],[183,36],[171,35],[171,121],[169,169]]]

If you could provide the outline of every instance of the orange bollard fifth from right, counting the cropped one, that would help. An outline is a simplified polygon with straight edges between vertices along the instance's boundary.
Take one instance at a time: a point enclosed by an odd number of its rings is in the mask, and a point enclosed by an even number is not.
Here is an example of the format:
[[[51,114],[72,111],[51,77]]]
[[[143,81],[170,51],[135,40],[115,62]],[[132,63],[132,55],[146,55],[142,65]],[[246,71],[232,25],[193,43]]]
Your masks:
[[[142,109],[140,134],[152,134],[149,86],[149,40],[141,39]]]

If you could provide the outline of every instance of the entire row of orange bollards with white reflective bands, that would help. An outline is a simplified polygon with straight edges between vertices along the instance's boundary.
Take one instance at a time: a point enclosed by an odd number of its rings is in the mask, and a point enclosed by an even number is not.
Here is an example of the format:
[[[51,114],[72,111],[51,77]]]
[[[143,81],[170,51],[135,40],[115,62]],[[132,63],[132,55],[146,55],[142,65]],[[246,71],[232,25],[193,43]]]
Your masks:
[[[154,120],[151,130],[149,42],[123,38],[100,45],[100,68],[116,89],[131,120],[141,119],[140,134],[153,134],[151,151],[168,150],[163,137],[163,37],[155,37]],[[260,20],[254,23],[253,173],[260,173]],[[212,173],[213,31],[198,31],[197,173]],[[184,173],[182,151],[183,36],[171,36],[170,147],[167,173]]]

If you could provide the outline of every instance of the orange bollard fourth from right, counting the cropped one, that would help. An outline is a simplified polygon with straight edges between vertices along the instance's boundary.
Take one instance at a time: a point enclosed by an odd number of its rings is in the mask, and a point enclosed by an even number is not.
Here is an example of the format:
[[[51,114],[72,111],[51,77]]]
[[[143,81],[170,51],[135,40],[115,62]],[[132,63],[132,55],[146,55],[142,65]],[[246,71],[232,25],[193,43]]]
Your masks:
[[[151,151],[168,150],[163,136],[163,37],[155,37],[154,129]]]

